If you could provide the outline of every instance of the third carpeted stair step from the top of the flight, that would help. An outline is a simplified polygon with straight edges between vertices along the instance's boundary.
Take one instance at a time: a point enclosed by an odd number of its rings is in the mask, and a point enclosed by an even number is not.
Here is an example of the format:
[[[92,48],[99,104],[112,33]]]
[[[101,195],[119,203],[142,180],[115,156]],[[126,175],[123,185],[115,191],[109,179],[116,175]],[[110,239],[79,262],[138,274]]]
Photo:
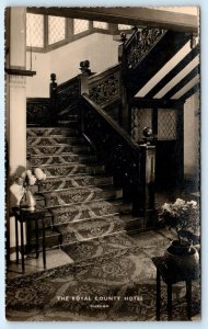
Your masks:
[[[68,152],[74,152],[74,154],[86,154],[90,152],[91,148],[86,145],[68,145],[68,144],[59,144],[59,145],[37,145],[27,147],[27,154],[30,155],[37,155],[37,156],[44,156],[44,155],[63,155]]]

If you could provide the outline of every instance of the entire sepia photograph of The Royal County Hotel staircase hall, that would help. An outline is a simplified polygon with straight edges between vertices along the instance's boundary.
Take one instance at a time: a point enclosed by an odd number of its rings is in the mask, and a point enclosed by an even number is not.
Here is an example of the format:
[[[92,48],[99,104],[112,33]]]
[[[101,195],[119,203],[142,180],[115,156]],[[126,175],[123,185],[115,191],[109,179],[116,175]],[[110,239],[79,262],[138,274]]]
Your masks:
[[[4,29],[7,320],[200,321],[200,8]]]

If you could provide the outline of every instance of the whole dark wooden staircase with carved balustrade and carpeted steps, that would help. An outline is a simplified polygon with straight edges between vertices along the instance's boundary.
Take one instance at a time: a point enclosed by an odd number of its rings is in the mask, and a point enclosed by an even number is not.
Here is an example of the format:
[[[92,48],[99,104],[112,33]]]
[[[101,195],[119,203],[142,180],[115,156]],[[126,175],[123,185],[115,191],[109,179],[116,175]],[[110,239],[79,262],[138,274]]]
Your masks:
[[[120,64],[91,75],[83,61],[82,73],[65,83],[57,86],[51,75],[49,100],[28,100],[30,166],[47,175],[38,202],[47,209],[48,246],[155,227],[155,147],[148,139],[135,144],[122,125],[130,98],[189,38],[135,31],[124,41]]]

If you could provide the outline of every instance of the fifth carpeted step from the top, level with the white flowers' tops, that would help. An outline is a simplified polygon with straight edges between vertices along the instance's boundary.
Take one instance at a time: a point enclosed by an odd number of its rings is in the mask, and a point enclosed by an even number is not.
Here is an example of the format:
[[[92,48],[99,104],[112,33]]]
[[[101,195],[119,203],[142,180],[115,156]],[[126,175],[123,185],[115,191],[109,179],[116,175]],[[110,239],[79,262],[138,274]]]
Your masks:
[[[44,172],[46,173],[47,178],[50,178],[50,177],[56,177],[56,175],[68,177],[68,175],[72,175],[72,174],[86,173],[88,170],[84,164],[74,162],[74,163],[69,163],[69,164],[45,166]]]

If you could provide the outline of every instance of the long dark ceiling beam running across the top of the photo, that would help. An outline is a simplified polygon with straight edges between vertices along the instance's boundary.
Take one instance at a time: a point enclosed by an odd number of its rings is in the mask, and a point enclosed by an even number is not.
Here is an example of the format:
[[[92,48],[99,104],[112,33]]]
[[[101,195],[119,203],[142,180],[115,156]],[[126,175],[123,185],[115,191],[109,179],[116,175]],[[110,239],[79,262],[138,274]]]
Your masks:
[[[27,12],[46,15],[103,21],[137,26],[161,27],[166,30],[198,33],[198,18],[196,15],[161,11],[150,8],[66,8],[66,7],[31,7]]]

